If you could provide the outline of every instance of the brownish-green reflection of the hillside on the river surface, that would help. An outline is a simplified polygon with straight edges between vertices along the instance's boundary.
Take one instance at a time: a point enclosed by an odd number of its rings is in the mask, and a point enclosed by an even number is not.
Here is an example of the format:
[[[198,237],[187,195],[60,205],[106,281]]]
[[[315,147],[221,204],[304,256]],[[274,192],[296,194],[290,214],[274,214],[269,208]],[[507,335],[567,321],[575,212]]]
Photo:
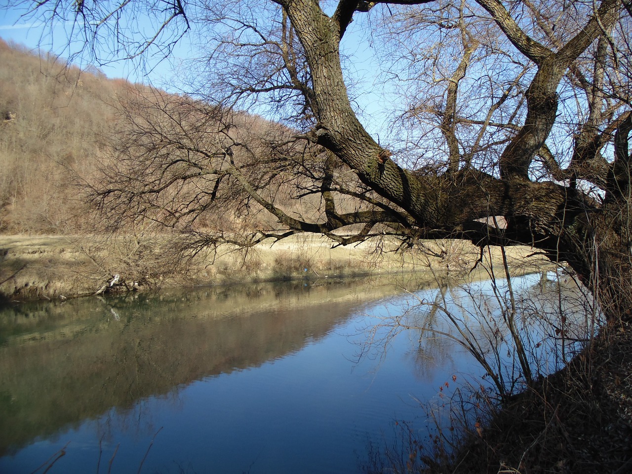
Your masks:
[[[9,309],[0,319],[0,425],[9,427],[0,430],[0,454],[110,409],[127,413],[134,429],[153,429],[143,398],[178,403],[178,386],[295,351],[362,298],[347,286],[258,288]]]

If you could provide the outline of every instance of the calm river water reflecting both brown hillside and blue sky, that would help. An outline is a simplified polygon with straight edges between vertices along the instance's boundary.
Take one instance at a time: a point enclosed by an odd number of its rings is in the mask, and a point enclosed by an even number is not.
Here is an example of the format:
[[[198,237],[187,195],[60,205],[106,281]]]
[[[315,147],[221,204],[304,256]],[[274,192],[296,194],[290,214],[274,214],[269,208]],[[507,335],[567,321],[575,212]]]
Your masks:
[[[514,287],[535,313],[552,305],[558,316],[568,310],[557,303],[577,293],[540,275]],[[401,288],[270,283],[5,308],[0,472],[42,473],[61,450],[49,473],[362,471],[372,449],[397,441],[396,422],[420,436],[432,428],[420,404],[441,403],[463,382],[489,384],[439,335],[451,326],[435,303],[489,341],[482,334],[498,329],[490,321],[507,293],[490,293],[490,282]],[[563,363],[559,350],[544,352],[555,337],[547,327],[530,322],[525,332],[540,342],[542,372]],[[513,367],[509,346],[501,352]]]

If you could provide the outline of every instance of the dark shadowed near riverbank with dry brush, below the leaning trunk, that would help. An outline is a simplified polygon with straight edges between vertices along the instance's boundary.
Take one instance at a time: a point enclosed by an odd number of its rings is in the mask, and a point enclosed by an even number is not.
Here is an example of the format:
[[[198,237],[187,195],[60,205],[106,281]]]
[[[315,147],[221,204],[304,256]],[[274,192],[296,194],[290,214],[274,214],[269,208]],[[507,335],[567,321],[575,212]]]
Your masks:
[[[632,472],[631,446],[628,315],[602,328],[562,370],[473,427],[449,463],[423,472],[624,474]]]

